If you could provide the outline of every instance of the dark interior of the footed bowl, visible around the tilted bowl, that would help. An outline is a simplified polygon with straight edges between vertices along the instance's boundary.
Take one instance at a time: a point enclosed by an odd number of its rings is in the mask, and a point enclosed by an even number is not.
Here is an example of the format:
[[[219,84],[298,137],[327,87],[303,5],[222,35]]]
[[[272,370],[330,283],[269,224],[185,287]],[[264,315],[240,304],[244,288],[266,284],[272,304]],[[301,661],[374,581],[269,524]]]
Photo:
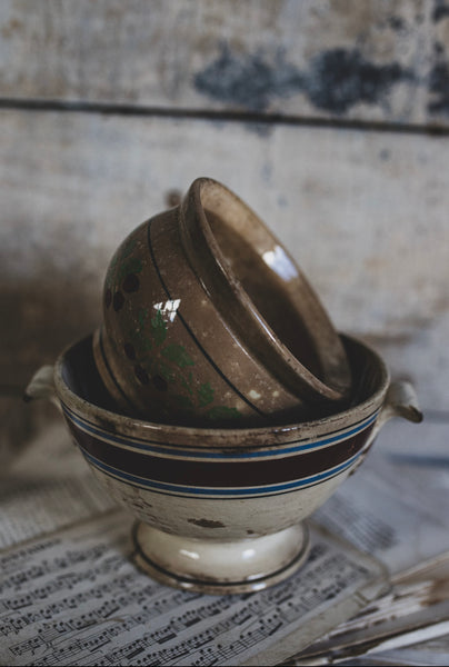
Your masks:
[[[352,396],[347,407],[347,410],[350,410],[357,406],[362,406],[366,401],[372,401],[377,395],[381,395],[387,390],[388,370],[382,359],[366,345],[345,335],[341,335],[341,340],[353,377]],[[92,352],[92,336],[88,336],[71,346],[63,352],[57,366],[59,366],[59,374],[64,387],[76,397],[97,408],[108,410],[108,412],[123,415],[117,408],[98,374]],[[133,417],[132,415],[127,416]],[[137,417],[136,420],[140,421]],[[177,426],[181,427],[182,425],[170,424],[168,426],[177,428]],[[273,425],[270,429],[277,426],[287,428],[288,426],[295,426],[295,424]],[[204,427],[211,429],[209,425],[204,425]],[[267,427],[248,430],[256,431],[265,428]]]

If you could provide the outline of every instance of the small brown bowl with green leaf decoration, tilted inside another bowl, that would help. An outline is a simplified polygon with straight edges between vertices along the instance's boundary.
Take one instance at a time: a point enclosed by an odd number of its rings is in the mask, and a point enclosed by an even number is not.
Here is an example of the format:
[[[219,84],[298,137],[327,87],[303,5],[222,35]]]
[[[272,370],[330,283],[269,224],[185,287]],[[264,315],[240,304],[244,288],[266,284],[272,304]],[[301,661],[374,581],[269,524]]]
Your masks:
[[[206,178],[117,250],[93,350],[117,405],[158,421],[308,418],[332,411],[351,384],[343,346],[293,259]]]

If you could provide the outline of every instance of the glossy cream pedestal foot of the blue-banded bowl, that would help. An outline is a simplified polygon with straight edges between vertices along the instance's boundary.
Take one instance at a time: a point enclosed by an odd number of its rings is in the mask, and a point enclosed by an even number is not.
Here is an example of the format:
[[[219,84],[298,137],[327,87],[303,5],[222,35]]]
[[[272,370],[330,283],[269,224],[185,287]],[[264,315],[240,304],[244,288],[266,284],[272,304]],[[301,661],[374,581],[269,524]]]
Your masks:
[[[303,564],[310,547],[305,524],[262,537],[220,541],[169,535],[138,522],[133,541],[136,565],[153,579],[218,595],[262,590],[282,581]]]

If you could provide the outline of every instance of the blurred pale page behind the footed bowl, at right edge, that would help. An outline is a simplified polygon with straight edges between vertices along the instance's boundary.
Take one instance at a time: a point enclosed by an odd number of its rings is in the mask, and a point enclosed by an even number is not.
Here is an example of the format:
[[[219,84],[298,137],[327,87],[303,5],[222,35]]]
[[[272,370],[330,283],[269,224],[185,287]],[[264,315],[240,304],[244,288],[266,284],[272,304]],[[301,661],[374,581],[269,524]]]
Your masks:
[[[382,429],[357,472],[313,516],[393,575],[449,550],[447,421]]]

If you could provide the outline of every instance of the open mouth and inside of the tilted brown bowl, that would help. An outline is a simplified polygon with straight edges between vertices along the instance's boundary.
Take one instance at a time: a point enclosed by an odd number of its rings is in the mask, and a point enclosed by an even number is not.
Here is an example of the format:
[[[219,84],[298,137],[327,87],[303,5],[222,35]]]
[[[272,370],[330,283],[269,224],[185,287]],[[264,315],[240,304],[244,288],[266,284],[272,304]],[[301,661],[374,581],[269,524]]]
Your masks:
[[[343,346],[293,258],[233,192],[213,179],[196,185],[202,233],[237,297],[222,300],[217,275],[208,278],[217,308],[292,394],[307,402],[346,398],[352,379]]]

